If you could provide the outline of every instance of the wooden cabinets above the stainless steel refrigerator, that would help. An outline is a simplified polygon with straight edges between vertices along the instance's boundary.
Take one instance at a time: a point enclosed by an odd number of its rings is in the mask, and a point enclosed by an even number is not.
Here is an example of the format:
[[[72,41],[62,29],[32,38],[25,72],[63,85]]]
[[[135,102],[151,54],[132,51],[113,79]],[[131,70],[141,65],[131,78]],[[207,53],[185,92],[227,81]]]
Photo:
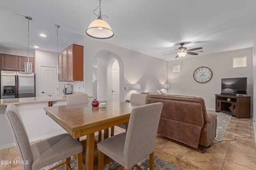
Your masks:
[[[28,57],[1,54],[1,70],[25,71],[24,63],[28,61]],[[32,71],[34,72],[34,58],[30,57],[32,62]]]

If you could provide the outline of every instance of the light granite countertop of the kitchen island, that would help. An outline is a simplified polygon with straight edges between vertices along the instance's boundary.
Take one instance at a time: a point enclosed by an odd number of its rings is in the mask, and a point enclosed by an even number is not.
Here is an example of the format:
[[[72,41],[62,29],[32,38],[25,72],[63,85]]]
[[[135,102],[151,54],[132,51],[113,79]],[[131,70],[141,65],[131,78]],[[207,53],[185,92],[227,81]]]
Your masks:
[[[47,97],[34,97],[34,98],[13,98],[13,99],[0,99],[0,106],[7,106],[8,104],[30,104],[40,102],[55,102],[66,100],[66,96],[47,96]]]

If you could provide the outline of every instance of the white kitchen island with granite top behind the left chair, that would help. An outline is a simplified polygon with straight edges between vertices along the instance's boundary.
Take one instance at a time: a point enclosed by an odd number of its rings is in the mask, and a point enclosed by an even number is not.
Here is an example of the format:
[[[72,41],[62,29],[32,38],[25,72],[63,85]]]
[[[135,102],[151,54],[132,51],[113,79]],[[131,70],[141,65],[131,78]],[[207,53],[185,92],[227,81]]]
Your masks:
[[[66,105],[65,96],[0,99],[0,150],[15,146],[12,132],[4,114],[6,106],[10,103],[18,107],[30,142],[66,133],[43,110],[44,107],[48,106]]]

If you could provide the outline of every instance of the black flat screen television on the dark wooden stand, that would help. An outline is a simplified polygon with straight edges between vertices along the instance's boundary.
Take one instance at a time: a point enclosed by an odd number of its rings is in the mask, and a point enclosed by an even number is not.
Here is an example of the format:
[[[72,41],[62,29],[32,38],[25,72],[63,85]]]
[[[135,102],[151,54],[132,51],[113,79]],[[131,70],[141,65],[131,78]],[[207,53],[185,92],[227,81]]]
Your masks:
[[[225,94],[247,94],[247,77],[222,78],[221,92]]]

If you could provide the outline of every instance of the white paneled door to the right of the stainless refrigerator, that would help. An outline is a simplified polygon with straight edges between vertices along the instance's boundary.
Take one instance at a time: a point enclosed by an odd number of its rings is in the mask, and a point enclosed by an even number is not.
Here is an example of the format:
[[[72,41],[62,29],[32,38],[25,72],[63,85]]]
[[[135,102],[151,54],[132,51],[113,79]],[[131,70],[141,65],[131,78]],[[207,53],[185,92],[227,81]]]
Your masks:
[[[40,66],[40,96],[58,96],[58,74],[54,66]]]

